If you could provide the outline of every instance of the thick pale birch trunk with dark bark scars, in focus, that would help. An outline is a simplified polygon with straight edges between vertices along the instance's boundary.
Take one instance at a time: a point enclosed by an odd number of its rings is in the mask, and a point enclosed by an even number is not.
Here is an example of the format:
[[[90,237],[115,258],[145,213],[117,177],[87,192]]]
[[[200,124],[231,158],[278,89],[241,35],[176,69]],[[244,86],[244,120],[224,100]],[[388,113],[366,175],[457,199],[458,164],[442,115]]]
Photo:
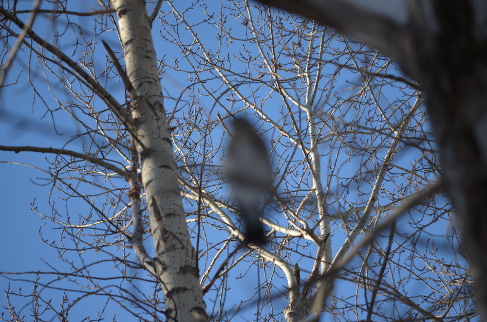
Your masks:
[[[127,74],[139,97],[137,102],[131,102],[132,132],[136,137],[154,239],[154,271],[164,293],[167,321],[207,321],[145,2],[112,0],[112,3],[119,22]]]

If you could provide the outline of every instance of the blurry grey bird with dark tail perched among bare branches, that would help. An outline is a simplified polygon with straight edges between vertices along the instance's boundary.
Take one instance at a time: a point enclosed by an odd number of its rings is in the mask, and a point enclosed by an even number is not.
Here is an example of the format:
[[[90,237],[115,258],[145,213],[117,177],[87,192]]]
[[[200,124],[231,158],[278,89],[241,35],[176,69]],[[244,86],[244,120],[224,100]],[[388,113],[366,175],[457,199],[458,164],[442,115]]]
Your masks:
[[[226,174],[244,220],[245,243],[265,244],[262,228],[263,199],[272,187],[271,166],[265,144],[243,118],[233,121]]]

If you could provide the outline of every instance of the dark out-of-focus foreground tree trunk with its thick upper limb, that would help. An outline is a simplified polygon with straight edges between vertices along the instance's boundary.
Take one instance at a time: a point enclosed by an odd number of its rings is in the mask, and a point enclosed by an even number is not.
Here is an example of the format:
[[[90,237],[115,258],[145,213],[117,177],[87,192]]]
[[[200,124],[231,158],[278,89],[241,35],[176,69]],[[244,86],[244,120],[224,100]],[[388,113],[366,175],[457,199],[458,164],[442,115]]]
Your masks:
[[[393,1],[396,17],[380,4],[261,2],[317,19],[390,54],[418,82],[486,318],[487,1]]]

